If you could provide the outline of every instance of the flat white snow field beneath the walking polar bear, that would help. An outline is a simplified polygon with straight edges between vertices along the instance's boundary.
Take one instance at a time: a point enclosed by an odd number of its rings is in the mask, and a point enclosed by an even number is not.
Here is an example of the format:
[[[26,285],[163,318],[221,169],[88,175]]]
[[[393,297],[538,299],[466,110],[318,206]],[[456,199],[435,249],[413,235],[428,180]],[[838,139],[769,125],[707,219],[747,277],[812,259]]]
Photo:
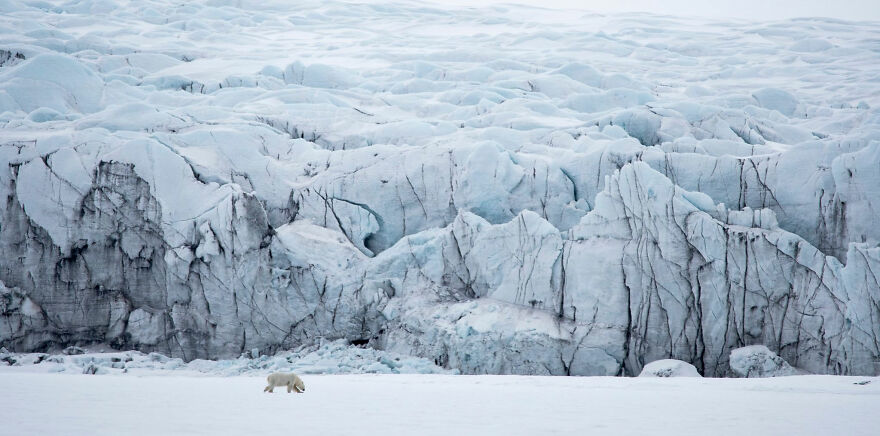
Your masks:
[[[880,378],[0,374],[0,433],[876,435]],[[868,381],[859,385],[857,382]]]

